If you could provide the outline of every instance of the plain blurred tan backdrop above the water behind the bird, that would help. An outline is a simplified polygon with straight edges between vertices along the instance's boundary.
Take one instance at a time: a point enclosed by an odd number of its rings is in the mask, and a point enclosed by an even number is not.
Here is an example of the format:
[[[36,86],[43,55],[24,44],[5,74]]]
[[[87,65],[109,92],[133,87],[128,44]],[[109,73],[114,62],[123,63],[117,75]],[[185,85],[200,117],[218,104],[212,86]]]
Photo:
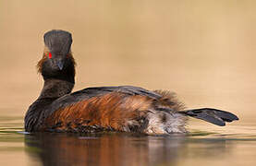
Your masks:
[[[188,108],[254,122],[255,7],[250,0],[0,0],[0,113],[23,117],[36,100],[43,34],[57,29],[73,35],[74,90],[169,89]]]

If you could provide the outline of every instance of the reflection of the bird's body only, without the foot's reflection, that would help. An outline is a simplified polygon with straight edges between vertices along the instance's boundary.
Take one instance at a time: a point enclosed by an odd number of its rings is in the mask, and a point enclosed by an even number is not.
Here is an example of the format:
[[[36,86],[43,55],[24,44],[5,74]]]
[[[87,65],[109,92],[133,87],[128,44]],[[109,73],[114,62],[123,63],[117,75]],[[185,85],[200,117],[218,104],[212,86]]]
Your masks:
[[[35,134],[27,152],[43,165],[154,165],[176,162],[184,136]]]

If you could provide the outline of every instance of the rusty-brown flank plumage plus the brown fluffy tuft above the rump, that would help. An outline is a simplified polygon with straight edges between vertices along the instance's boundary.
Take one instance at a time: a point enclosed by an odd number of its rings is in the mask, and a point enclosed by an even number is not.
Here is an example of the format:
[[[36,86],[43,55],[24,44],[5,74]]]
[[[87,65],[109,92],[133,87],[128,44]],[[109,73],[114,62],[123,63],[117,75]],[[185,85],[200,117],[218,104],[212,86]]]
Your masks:
[[[134,127],[137,127],[136,130],[142,132],[146,126],[140,124],[144,123],[141,120],[154,107],[160,107],[157,103],[163,103],[161,106],[168,109],[181,110],[183,104],[172,102],[170,99],[174,99],[174,96],[166,92],[159,102],[146,96],[110,92],[56,110],[46,118],[42,130],[79,131],[83,130],[84,126],[93,126],[92,130],[104,128],[116,131],[133,131]]]

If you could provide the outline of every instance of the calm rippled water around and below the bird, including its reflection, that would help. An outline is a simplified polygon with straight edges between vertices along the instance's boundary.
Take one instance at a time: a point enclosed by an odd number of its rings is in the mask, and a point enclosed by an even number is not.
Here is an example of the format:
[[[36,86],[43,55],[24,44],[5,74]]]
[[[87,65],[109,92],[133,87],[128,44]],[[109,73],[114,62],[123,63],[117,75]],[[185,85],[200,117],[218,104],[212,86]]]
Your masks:
[[[256,124],[237,126],[234,123],[210,130],[212,125],[192,122],[189,127],[191,133],[186,136],[143,136],[125,133],[28,134],[23,132],[22,121],[22,117],[1,117],[0,165],[256,163]]]

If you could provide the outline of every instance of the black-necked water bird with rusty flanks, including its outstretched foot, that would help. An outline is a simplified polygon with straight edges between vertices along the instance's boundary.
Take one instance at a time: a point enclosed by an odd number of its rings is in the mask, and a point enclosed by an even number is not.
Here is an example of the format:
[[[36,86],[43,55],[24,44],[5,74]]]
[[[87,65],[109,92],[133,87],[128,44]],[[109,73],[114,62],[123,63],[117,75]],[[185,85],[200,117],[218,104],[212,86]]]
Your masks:
[[[49,30],[43,35],[38,72],[43,89],[24,118],[26,132],[131,132],[146,135],[188,133],[188,117],[224,126],[238,120],[234,113],[213,108],[186,110],[168,90],[134,86],[91,87],[72,92],[76,62],[72,34]]]

